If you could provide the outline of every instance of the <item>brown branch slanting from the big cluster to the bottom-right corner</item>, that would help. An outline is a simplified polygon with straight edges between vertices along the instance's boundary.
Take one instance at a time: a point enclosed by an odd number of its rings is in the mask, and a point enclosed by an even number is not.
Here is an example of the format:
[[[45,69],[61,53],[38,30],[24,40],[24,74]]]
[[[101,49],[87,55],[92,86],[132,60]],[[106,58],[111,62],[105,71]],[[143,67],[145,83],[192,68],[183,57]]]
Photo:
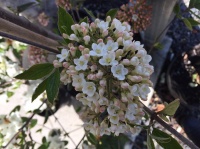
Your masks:
[[[174,136],[176,136],[179,140],[181,140],[187,146],[189,146],[192,149],[199,149],[193,142],[186,139],[183,135],[181,135],[175,129],[173,129],[171,126],[169,126],[167,123],[165,123],[161,118],[159,118],[157,116],[157,114],[155,112],[151,111],[145,105],[144,105],[144,110],[151,116],[152,119],[156,120],[159,124],[161,124],[165,129],[167,129],[170,133],[172,133]]]

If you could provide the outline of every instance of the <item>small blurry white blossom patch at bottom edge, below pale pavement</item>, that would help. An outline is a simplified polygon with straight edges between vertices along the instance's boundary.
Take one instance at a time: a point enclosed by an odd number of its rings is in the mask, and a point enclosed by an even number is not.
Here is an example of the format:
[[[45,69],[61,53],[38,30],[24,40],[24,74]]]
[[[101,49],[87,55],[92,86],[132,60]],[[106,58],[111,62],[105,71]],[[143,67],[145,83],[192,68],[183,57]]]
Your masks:
[[[50,142],[48,149],[65,149],[65,143],[61,141],[59,129],[52,129],[47,141]]]

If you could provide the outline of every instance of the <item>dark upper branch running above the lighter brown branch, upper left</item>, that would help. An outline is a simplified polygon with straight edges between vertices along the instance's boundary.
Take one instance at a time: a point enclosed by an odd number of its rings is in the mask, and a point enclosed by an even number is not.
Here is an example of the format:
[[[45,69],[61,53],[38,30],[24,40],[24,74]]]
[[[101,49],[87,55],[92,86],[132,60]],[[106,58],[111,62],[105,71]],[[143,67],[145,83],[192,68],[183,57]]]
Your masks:
[[[50,32],[50,31],[48,31],[46,28],[44,28],[42,26],[31,23],[29,20],[27,20],[24,17],[20,17],[20,16],[13,14],[13,13],[10,13],[10,12],[4,10],[3,8],[0,8],[0,18],[7,20],[11,23],[14,23],[18,26],[21,26],[25,29],[31,30],[31,31],[38,33],[40,35],[43,35],[47,38],[50,38],[50,39],[53,39],[53,40],[56,40],[56,41],[62,41],[63,40],[63,38],[61,36],[56,35],[56,34]]]

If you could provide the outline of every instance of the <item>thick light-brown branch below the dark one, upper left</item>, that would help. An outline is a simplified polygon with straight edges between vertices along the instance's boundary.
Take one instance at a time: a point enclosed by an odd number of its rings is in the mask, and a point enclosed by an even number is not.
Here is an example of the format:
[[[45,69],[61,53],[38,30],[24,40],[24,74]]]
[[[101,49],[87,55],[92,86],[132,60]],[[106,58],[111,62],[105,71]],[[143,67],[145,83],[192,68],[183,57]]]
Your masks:
[[[53,53],[60,53],[57,47],[60,46],[55,40],[34,33],[16,24],[0,18],[0,35],[18,40],[33,46],[48,50]]]

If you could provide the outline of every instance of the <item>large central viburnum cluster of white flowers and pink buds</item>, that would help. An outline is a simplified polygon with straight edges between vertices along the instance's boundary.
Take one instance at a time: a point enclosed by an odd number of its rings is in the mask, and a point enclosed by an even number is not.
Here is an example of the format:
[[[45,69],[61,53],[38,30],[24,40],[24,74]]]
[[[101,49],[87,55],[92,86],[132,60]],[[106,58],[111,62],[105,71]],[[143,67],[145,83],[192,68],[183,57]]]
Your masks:
[[[71,42],[58,54],[54,67],[63,67],[60,80],[72,83],[76,99],[90,108],[84,126],[94,135],[138,130],[144,116],[140,99],[150,92],[151,56],[127,22],[96,19],[71,26]]]

